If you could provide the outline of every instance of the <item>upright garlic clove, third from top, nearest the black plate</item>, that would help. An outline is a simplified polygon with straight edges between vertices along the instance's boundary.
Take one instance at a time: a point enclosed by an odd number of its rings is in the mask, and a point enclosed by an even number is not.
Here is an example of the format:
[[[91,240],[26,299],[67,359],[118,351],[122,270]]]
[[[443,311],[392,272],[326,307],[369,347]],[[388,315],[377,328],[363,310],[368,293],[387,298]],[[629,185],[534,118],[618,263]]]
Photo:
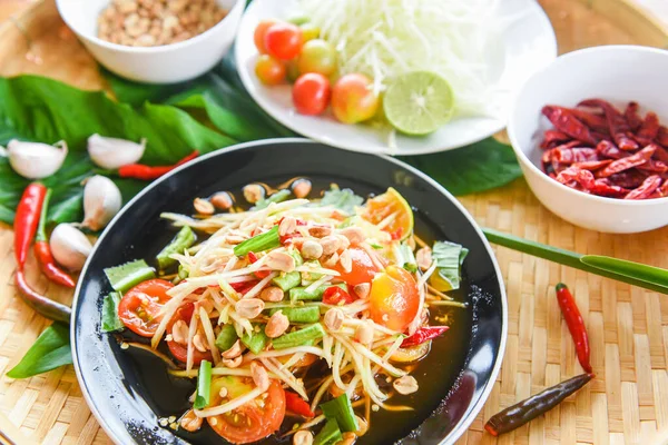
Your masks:
[[[86,180],[84,187],[84,222],[90,230],[102,229],[118,214],[122,205],[120,190],[114,181],[96,175]]]

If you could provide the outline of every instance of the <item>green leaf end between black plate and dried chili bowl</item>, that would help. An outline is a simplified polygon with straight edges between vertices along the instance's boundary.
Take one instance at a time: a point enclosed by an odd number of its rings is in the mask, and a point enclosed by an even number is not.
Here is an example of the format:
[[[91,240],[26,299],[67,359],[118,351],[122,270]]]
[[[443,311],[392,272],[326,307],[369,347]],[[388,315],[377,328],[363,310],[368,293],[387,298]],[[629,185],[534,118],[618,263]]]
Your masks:
[[[522,176],[512,148],[493,138],[435,155],[400,159],[461,196],[501,187]]]

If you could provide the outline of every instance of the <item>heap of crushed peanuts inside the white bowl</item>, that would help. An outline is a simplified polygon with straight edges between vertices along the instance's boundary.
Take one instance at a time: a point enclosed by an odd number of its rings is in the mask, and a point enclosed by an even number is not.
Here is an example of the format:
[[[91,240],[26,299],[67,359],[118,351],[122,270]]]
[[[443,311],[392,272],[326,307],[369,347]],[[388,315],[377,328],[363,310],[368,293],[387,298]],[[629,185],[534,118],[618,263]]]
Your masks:
[[[198,36],[225,18],[215,0],[112,0],[98,37],[129,47],[159,47]]]

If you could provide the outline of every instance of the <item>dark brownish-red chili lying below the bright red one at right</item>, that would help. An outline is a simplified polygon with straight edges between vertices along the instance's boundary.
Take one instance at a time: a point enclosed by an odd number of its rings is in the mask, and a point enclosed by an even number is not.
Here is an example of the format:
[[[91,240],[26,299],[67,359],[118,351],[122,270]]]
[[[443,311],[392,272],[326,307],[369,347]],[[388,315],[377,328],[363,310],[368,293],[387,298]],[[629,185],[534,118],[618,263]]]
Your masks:
[[[497,437],[500,434],[519,428],[559,405],[566,397],[576,393],[593,377],[595,375],[591,373],[581,374],[544,389],[525,400],[494,414],[484,425],[484,429]]]

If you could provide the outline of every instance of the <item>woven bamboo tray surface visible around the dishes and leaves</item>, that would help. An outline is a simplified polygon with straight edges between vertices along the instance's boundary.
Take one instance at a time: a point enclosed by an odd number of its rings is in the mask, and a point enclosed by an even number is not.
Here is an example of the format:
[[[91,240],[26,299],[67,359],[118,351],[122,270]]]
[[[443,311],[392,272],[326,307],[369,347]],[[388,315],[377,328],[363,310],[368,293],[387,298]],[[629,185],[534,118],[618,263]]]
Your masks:
[[[656,2],[660,8],[665,0]],[[31,0],[0,0],[0,19]],[[606,43],[668,47],[667,16],[648,20],[618,0],[542,0],[561,52]],[[658,9],[657,9],[658,10]],[[52,3],[14,14],[0,24],[0,75],[31,72],[80,88],[104,82],[90,56],[59,20]],[[551,215],[523,180],[464,197],[484,226],[582,254],[612,255],[668,267],[668,228],[610,236],[583,230]],[[483,421],[502,407],[580,373],[561,320],[553,286],[573,289],[587,322],[597,378],[576,397],[499,444],[654,444],[668,434],[668,296],[641,290],[552,263],[495,248],[508,289],[509,338],[501,374],[482,413],[460,444],[488,444]],[[29,280],[61,301],[70,295],[35,270]],[[11,368],[48,324],[16,296],[12,233],[0,225],[0,375]],[[14,443],[104,444],[72,367],[26,380],[0,377],[0,432]],[[662,442],[662,441],[661,441]],[[0,443],[2,438],[0,437]]]

